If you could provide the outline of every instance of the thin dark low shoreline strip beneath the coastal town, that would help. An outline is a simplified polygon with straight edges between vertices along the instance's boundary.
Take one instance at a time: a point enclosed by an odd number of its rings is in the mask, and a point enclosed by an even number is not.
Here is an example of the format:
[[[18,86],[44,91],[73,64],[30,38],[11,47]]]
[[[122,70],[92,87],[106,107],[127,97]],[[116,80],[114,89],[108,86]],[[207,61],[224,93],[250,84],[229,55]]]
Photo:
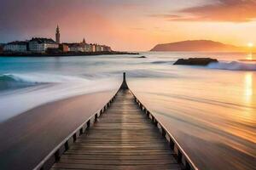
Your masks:
[[[12,54],[0,54],[0,57],[72,57],[72,56],[90,56],[90,55],[115,55],[115,54],[131,54],[137,55],[139,53],[131,52],[119,52],[119,51],[105,51],[105,52],[67,52],[57,54],[26,54],[26,53],[12,53]]]

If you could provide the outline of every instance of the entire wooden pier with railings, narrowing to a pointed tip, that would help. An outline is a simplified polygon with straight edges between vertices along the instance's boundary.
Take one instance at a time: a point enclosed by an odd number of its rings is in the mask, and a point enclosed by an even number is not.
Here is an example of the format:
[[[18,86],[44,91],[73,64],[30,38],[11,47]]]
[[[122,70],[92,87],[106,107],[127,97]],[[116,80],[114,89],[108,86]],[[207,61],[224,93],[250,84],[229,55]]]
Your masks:
[[[92,125],[93,123],[93,126]],[[52,166],[53,165],[53,166]],[[125,82],[35,169],[197,169]]]

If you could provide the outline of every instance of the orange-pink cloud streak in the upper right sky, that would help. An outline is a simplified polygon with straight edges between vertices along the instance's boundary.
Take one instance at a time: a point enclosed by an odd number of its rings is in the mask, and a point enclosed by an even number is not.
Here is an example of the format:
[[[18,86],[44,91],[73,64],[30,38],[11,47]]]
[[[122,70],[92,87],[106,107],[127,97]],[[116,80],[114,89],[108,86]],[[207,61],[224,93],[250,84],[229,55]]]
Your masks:
[[[249,22],[256,19],[256,0],[218,0],[177,14],[157,14],[154,17],[171,21]]]

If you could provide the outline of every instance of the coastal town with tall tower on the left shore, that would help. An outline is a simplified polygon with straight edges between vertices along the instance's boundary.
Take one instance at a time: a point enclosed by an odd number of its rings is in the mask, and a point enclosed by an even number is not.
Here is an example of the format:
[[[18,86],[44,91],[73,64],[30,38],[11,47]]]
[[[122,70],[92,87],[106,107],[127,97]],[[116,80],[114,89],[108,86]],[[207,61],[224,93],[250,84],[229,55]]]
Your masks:
[[[60,27],[57,26],[55,41],[52,38],[32,37],[31,40],[15,41],[0,44],[0,54],[102,54],[111,53],[112,49],[106,45],[88,43],[83,39],[82,42],[61,42]]]

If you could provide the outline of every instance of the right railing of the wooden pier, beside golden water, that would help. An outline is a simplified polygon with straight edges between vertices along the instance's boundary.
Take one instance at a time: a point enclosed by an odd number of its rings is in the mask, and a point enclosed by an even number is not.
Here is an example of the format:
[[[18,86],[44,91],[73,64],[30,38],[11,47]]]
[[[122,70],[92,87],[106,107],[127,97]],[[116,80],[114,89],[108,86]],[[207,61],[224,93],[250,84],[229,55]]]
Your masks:
[[[149,111],[139,99],[137,99],[137,96],[135,94],[133,94],[132,92],[131,94],[134,96],[137,105],[140,107],[143,113],[145,113],[148,118],[151,119],[154,125],[159,128],[162,136],[168,140],[171,150],[173,150],[176,155],[177,162],[183,165],[183,169],[198,170],[198,167],[196,167],[193,161],[191,161],[181,145],[178,144],[177,140],[172,136],[171,133],[168,132],[167,128],[155,118],[152,112]]]

